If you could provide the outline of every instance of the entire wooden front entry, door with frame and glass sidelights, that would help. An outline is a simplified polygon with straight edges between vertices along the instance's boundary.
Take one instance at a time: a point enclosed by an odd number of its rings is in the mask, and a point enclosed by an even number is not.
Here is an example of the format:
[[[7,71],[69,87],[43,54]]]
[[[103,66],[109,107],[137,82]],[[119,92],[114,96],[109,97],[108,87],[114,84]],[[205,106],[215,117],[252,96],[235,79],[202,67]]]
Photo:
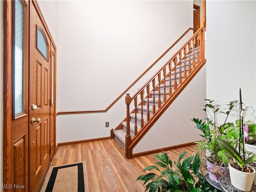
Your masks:
[[[38,192],[56,150],[56,45],[36,1],[3,5],[1,187]]]

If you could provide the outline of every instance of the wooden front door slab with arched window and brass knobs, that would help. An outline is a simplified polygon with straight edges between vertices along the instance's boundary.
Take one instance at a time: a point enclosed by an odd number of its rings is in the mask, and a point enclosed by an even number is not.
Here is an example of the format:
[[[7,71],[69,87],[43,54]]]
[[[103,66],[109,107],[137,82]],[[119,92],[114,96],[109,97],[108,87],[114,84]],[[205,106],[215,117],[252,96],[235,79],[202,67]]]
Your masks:
[[[30,6],[30,191],[37,192],[50,165],[51,41]],[[53,121],[52,121],[53,123]]]

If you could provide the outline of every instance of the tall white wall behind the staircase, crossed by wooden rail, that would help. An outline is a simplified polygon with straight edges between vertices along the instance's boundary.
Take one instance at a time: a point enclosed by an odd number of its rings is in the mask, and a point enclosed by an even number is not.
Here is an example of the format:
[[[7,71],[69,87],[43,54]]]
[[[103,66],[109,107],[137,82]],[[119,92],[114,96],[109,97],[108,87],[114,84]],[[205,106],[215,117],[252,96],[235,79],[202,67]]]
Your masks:
[[[57,112],[104,110],[193,26],[193,1],[59,1],[58,7]],[[57,116],[57,143],[110,136],[125,106],[122,98],[107,113]]]

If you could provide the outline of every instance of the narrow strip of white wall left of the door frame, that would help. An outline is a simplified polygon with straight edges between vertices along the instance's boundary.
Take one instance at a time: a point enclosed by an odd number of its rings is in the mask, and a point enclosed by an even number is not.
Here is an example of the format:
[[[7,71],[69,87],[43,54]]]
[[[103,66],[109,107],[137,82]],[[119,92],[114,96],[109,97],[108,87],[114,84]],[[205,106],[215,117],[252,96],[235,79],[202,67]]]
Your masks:
[[[0,1],[0,185],[3,184],[3,1]],[[0,191],[3,190],[0,188]]]

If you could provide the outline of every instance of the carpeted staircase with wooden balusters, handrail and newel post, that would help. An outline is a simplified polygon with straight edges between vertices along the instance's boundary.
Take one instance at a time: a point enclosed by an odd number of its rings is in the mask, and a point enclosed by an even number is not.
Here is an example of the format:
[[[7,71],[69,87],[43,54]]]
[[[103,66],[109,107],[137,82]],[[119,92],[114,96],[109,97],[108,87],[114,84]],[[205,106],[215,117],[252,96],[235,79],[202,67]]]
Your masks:
[[[133,96],[126,94],[126,118],[111,131],[126,158],[132,158],[134,146],[205,64],[204,31],[194,33]]]

